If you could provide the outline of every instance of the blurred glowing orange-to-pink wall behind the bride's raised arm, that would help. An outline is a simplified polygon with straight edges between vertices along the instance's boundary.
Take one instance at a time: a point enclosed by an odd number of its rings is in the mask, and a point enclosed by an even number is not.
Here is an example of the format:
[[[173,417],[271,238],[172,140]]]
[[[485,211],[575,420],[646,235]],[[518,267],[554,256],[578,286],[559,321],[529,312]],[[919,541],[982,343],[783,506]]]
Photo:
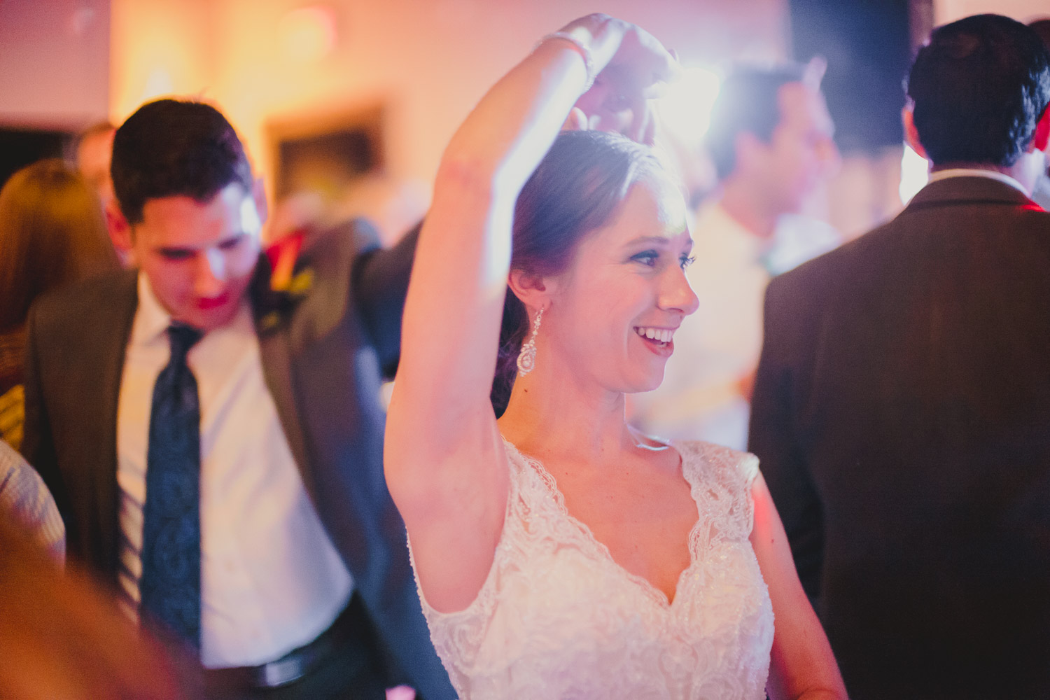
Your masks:
[[[335,44],[303,62],[282,48],[299,0],[112,0],[112,99],[122,120],[165,92],[216,101],[264,173],[265,128],[382,102],[390,173],[428,183],[484,90],[589,0],[332,0]],[[687,65],[785,50],[784,0],[607,0],[675,47]]]

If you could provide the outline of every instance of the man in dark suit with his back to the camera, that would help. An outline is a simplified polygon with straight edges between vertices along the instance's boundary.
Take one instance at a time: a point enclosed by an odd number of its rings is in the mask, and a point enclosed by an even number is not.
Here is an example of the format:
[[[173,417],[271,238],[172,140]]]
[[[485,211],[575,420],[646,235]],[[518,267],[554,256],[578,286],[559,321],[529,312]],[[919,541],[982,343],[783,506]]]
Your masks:
[[[969,17],[907,89],[931,182],[773,280],[750,449],[852,698],[1050,698],[1050,55]]]

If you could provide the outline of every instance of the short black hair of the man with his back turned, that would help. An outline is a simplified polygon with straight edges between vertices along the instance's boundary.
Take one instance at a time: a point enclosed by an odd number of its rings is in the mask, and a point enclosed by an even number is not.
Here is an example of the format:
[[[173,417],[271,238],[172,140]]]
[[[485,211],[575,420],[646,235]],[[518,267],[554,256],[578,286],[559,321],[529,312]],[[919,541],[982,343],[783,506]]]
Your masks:
[[[933,29],[906,89],[933,165],[1009,167],[1028,150],[1050,102],[1050,51],[1008,17],[966,17]]]

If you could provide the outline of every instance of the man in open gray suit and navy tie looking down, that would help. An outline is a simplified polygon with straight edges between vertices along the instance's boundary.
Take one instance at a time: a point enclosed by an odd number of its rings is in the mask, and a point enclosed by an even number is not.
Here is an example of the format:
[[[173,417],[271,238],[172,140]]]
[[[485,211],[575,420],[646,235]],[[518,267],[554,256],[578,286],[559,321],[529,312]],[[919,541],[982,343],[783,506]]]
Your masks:
[[[200,103],[140,108],[112,175],[138,270],[28,322],[24,451],[69,555],[216,696],[452,697],[382,474],[415,236],[341,227],[272,275],[261,190]]]

